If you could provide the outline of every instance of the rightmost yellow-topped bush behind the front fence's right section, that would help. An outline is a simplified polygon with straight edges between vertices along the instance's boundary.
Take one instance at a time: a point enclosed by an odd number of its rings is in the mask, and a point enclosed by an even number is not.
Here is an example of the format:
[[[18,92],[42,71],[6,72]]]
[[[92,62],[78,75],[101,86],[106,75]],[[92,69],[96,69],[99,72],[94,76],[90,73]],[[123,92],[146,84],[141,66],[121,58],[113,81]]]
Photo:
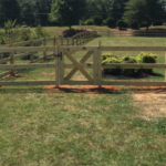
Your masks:
[[[153,53],[144,53],[137,55],[136,58],[137,63],[156,63],[157,62],[157,55]],[[153,73],[153,69],[138,69],[138,72],[145,72],[145,73]]]

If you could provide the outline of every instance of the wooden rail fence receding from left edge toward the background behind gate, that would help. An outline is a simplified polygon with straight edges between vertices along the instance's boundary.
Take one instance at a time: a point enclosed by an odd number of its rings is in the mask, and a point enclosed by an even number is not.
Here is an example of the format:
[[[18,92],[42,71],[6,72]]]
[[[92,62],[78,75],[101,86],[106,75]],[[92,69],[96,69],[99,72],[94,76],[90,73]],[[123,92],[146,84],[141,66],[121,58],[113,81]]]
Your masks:
[[[46,55],[46,51],[54,51],[54,46],[46,46],[46,41],[53,40],[53,45],[58,45],[58,44],[65,45],[64,41],[68,40],[66,45],[75,45],[76,44],[76,46],[77,46],[77,45],[84,44],[84,43],[93,40],[95,37],[96,37],[96,32],[93,31],[93,32],[81,32],[81,33],[75,34],[72,38],[66,38],[66,39],[64,39],[62,37],[60,37],[60,38],[54,37],[54,38],[48,38],[48,39],[43,38],[43,39],[38,39],[38,40],[33,40],[33,38],[32,38],[30,41],[23,41],[23,42],[18,42],[18,43],[13,43],[13,41],[12,41],[11,44],[6,44],[6,45],[0,46],[0,53],[9,52],[9,48],[13,49],[12,52],[10,52],[9,58],[0,60],[0,64],[4,64],[8,61],[10,61],[10,64],[14,64],[15,59],[20,59],[20,58],[27,56],[29,54],[30,54],[31,63],[35,63],[41,60],[45,61],[46,58],[53,55],[53,54]],[[70,39],[71,39],[71,43],[70,43]],[[80,40],[80,42],[79,42],[79,40]],[[58,42],[58,41],[61,41],[61,42]],[[38,44],[39,42],[43,42],[43,46],[34,46],[34,44]],[[24,44],[29,44],[30,46],[22,46]],[[20,46],[20,48],[15,48],[15,46]],[[18,52],[28,51],[28,52],[21,53],[21,54],[14,56],[14,52],[17,52],[17,51]],[[34,52],[43,52],[43,56],[34,60]],[[10,73],[13,75],[14,71],[11,70]],[[0,77],[6,76],[7,74],[9,74],[9,72],[4,72],[4,73],[0,74]]]

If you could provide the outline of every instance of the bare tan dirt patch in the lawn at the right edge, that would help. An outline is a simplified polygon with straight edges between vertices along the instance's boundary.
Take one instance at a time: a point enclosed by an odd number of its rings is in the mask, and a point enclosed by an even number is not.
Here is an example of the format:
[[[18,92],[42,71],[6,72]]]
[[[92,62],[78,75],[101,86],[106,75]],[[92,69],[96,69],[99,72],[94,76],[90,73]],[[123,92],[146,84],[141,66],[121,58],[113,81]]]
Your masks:
[[[141,89],[139,89],[141,90]],[[134,105],[141,108],[139,117],[166,117],[166,87],[148,87],[132,93]]]

